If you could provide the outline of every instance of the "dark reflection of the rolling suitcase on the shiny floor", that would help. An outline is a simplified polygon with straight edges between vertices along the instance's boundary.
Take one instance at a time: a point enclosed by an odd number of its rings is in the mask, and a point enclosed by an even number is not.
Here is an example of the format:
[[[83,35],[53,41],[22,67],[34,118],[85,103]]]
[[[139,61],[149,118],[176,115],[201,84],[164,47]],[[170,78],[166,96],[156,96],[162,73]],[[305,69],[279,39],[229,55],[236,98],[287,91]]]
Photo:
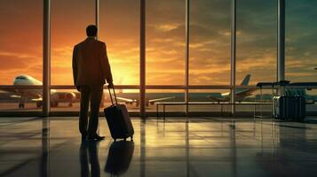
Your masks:
[[[129,169],[134,152],[134,142],[112,142],[108,155],[105,172],[112,175],[122,175]]]

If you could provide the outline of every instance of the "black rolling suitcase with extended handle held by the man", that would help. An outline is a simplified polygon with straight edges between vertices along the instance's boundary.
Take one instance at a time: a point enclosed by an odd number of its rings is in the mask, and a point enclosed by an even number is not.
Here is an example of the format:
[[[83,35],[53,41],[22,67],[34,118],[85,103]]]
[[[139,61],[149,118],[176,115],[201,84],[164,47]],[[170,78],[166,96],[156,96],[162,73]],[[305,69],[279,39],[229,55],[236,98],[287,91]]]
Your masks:
[[[124,104],[118,104],[115,96],[115,104],[111,96],[111,91],[109,90],[109,95],[111,98],[111,106],[105,108],[105,116],[107,119],[107,125],[110,130],[110,134],[114,140],[116,139],[126,139],[131,137],[133,139],[134,129],[131,123],[129,112]],[[113,89],[115,94],[115,89]]]

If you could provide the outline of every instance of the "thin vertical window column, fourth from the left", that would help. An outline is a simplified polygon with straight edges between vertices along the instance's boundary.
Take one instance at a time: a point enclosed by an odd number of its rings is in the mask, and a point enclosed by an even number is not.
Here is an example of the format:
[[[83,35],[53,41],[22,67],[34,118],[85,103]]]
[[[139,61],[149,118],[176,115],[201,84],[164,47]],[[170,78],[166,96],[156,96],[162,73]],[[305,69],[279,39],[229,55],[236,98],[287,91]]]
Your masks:
[[[189,6],[190,0],[186,0],[186,56],[185,56],[185,103],[186,117],[188,116],[188,85],[189,85]]]

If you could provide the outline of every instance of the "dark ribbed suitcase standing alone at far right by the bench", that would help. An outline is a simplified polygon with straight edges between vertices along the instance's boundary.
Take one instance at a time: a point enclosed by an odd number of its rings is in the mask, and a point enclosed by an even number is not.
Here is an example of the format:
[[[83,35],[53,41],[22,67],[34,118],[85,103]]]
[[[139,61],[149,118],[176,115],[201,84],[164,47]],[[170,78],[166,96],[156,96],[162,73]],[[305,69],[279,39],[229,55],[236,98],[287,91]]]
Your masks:
[[[304,121],[304,96],[274,96],[273,118],[282,120]]]

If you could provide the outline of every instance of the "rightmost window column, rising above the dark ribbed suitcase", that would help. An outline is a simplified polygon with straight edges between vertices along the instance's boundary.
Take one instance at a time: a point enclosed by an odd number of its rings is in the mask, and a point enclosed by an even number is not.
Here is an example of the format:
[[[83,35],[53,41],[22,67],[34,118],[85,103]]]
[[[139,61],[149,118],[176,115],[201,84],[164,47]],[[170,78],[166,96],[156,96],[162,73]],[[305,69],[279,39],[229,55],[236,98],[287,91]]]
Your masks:
[[[277,81],[285,80],[285,0],[278,0],[277,4]],[[284,94],[284,89],[280,90]]]

